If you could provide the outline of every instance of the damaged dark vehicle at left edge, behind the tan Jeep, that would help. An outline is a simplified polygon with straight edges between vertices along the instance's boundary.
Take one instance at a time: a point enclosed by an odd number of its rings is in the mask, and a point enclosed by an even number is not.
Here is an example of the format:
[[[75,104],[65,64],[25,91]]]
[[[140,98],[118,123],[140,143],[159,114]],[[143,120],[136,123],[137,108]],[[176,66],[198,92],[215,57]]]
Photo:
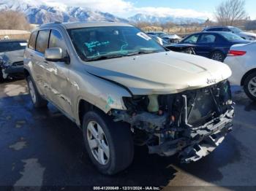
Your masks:
[[[26,40],[0,41],[0,82],[8,77],[23,74],[23,54],[26,45]]]

